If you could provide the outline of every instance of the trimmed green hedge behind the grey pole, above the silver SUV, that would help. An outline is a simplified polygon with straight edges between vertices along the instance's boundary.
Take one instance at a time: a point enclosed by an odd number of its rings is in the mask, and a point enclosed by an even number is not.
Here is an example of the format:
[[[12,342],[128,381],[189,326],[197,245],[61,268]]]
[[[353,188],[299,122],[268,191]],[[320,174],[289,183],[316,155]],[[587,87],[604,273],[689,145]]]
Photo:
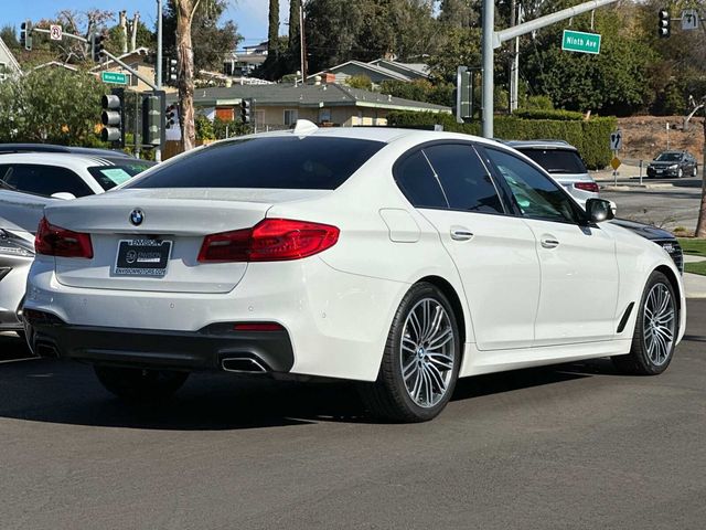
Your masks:
[[[537,114],[546,115],[542,110]],[[561,113],[566,113],[563,110]],[[609,148],[610,134],[618,126],[614,117],[592,117],[581,119],[524,119],[518,116],[495,116],[496,138],[505,140],[566,140],[578,149],[588,169],[602,169],[608,166],[612,153]],[[392,112],[387,123],[393,127],[431,127],[442,125],[443,130],[479,136],[480,123],[457,124],[450,114]]]

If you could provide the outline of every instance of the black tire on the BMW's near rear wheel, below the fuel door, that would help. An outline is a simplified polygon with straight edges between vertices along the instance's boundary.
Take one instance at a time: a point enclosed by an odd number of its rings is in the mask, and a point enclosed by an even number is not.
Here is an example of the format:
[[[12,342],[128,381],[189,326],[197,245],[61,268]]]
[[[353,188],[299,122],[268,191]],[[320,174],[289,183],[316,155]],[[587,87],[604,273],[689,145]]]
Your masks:
[[[427,303],[425,300],[432,301]],[[405,331],[407,319],[408,317],[411,318],[410,312],[413,310],[418,311],[419,307],[422,307],[420,305],[424,304],[429,304],[435,310],[436,307],[440,306],[446,311],[446,316],[441,316],[442,320],[439,320],[439,326],[436,327],[437,331],[430,336],[431,343],[428,340],[424,342],[422,339],[421,342],[426,343],[426,347],[420,347],[418,350],[413,350],[413,348],[403,350],[403,332]],[[435,312],[435,315],[439,314],[440,311]],[[442,332],[440,330],[441,322],[446,322]],[[446,341],[449,329],[452,333],[452,339]],[[431,332],[431,329],[428,332]],[[411,336],[406,335],[405,337],[405,340],[409,343]],[[438,344],[441,340],[446,341],[442,346],[429,348],[435,343]],[[361,396],[368,411],[376,417],[393,422],[426,422],[436,417],[447,405],[453,393],[461,364],[461,346],[457,318],[451,304],[443,293],[428,283],[414,285],[403,298],[393,319],[377,380],[374,383],[359,385]],[[427,348],[429,350],[425,353]],[[415,353],[410,353],[411,351],[415,351]],[[453,353],[452,361],[449,362],[447,359],[451,358],[449,356],[451,352]],[[413,368],[409,374],[417,374],[417,379],[410,390],[408,390],[403,377],[403,357],[405,356],[408,357],[407,367]],[[432,358],[434,360],[431,360]],[[426,368],[422,368],[422,363]],[[429,368],[429,365],[432,367]],[[434,374],[432,370],[435,371]],[[436,379],[437,373],[440,379]],[[424,385],[425,390],[429,389],[430,393],[427,395],[432,395],[425,405],[415,402],[410,395],[417,384],[419,386]],[[442,391],[442,384],[446,384],[445,391]],[[434,393],[435,386],[438,390],[437,394]],[[424,398],[420,395],[420,389],[417,390],[417,398],[419,400]],[[437,399],[438,401],[436,401]]]

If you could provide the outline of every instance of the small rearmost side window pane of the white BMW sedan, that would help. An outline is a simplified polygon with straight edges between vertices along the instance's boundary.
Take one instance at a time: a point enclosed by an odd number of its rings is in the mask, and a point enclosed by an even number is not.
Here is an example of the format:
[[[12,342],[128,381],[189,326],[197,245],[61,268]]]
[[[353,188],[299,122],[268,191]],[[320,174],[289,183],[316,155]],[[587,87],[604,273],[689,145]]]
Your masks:
[[[416,208],[449,208],[441,184],[421,151],[404,157],[395,166],[395,180]]]

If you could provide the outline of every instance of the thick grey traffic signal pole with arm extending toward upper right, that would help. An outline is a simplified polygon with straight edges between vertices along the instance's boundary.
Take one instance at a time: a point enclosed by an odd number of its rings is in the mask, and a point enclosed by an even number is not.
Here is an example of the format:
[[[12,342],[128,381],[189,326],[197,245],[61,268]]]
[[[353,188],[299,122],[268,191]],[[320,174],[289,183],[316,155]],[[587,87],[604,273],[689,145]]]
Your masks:
[[[552,25],[556,22],[560,22],[577,14],[592,11],[603,6],[608,6],[617,2],[618,0],[593,0],[590,2],[579,3],[573,8],[563,9],[556,13],[549,13],[538,19],[523,22],[522,24],[507,28],[506,30],[495,31],[495,2],[491,0],[483,0],[483,103],[482,119],[483,119],[483,136],[485,138],[493,137],[493,59],[494,51],[503,42],[516,39],[517,36],[530,33],[531,31],[539,30],[547,25]]]

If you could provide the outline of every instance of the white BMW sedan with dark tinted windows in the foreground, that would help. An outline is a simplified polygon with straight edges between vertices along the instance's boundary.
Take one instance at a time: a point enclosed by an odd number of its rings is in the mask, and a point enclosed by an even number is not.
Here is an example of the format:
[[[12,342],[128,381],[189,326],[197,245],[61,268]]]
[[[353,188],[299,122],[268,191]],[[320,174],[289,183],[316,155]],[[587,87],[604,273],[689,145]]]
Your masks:
[[[28,339],[127,400],[200,370],[338,378],[405,422],[459,377],[598,357],[657,374],[682,279],[611,216],[490,140],[299,123],[47,206]]]

